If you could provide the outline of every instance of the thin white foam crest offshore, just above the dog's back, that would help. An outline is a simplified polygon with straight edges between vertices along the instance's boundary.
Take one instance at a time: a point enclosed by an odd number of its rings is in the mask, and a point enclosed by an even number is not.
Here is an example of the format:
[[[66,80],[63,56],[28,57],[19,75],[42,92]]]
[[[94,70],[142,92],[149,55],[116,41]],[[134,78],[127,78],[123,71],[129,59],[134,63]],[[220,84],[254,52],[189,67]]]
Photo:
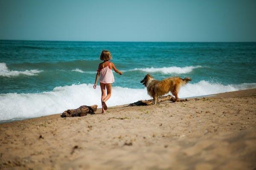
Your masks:
[[[202,68],[203,66],[197,65],[197,66],[186,66],[186,67],[163,67],[163,68],[134,68],[130,71],[144,71],[147,73],[155,73],[160,72],[162,74],[186,74],[195,68]]]

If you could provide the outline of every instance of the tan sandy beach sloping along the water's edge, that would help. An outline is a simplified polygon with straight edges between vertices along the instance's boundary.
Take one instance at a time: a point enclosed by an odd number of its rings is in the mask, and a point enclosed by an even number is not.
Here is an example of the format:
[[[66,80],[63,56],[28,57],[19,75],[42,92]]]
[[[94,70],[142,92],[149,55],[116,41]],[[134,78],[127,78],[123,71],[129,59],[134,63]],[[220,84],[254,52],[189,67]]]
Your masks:
[[[256,168],[256,89],[100,112],[0,124],[0,169]]]

